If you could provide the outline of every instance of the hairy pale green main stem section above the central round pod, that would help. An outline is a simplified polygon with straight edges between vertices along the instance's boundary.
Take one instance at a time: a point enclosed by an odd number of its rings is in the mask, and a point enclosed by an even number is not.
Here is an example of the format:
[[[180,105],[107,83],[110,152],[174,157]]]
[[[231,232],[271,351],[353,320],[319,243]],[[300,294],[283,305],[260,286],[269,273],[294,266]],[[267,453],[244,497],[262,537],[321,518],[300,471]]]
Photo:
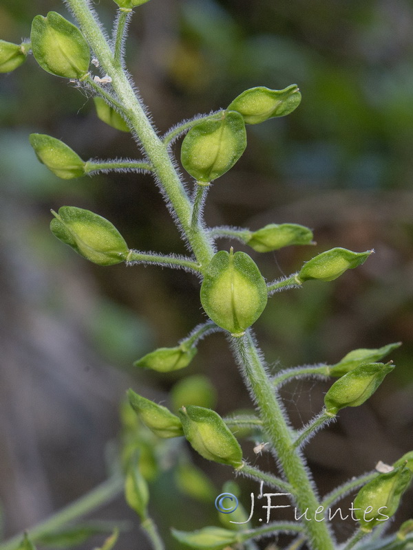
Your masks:
[[[127,74],[122,67],[116,65],[112,50],[103,35],[94,10],[87,0],[67,0],[67,5],[80,23],[83,34],[94,50],[101,67],[112,78],[112,88],[123,104],[123,111],[127,113],[128,124],[153,164],[157,183],[167,199],[173,219],[191,245],[197,261],[202,266],[207,265],[214,254],[213,243],[202,228],[191,231],[192,207],[187,192],[173,166],[167,147],[153,129]]]

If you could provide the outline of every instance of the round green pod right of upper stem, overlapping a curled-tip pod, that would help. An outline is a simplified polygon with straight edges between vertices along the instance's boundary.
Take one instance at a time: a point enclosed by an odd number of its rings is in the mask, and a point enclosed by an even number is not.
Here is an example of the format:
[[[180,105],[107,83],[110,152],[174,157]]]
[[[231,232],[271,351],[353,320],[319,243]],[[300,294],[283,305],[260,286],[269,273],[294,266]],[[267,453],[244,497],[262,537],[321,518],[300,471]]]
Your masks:
[[[209,184],[222,176],[246,148],[244,119],[235,111],[203,120],[189,130],[181,149],[182,166],[197,181]]]

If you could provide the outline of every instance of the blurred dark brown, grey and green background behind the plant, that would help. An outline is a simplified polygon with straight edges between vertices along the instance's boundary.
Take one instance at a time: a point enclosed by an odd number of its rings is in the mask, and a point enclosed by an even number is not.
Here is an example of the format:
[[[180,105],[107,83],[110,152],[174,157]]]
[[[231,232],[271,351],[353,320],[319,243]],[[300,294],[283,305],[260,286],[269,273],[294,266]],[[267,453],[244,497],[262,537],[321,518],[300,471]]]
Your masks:
[[[94,5],[110,30],[116,5]],[[32,18],[49,10],[69,17],[57,0],[2,0],[1,38],[19,43]],[[337,281],[276,294],[255,327],[274,368],[335,363],[352,349],[403,342],[391,357],[395,371],[368,404],[343,410],[308,445],[321,494],[413,448],[412,28],[408,0],[151,0],[130,26],[127,65],[160,133],[225,108],[249,87],[299,85],[297,111],[248,126],[246,152],[207,202],[209,225],[256,230],[290,222],[314,230],[313,248],[249,251],[268,280],[335,246],[376,251]],[[134,158],[131,137],[100,122],[92,98],[43,72],[32,56],[1,75],[0,120],[0,494],[7,537],[105,479],[127,387],[162,401],[180,379],[202,374],[217,388],[220,414],[251,405],[220,335],[202,342],[183,371],[158,375],[131,366],[155,347],[176,345],[204,320],[193,276],[92,265],[49,231],[50,208],[79,206],[112,221],[131,248],[186,253],[151,177],[63,181],[37,162],[28,142],[29,133],[47,133],[83,159]],[[228,250],[230,243],[220,245]],[[286,386],[295,426],[319,411],[327,388],[315,381]],[[268,454],[253,458],[253,446],[246,443],[246,456],[273,469]],[[215,494],[233,478],[226,467],[192,459],[209,472]],[[151,511],[172,550],[179,546],[170,525],[191,530],[218,525],[218,518],[213,498],[192,500],[167,466],[161,470],[152,476]],[[248,508],[257,486],[240,485]],[[412,514],[410,492],[396,525]],[[122,498],[95,516],[129,518],[132,530],[118,548],[146,549]],[[353,528],[341,522],[337,535]]]

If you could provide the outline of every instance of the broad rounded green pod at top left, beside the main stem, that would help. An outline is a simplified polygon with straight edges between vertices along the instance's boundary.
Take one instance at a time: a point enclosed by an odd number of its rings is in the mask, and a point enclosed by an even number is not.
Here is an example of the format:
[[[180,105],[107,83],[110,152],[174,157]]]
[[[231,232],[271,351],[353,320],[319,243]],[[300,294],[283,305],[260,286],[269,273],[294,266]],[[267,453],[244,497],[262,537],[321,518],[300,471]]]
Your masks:
[[[42,69],[64,78],[87,75],[90,49],[85,36],[59,13],[36,15],[32,23],[32,52]]]

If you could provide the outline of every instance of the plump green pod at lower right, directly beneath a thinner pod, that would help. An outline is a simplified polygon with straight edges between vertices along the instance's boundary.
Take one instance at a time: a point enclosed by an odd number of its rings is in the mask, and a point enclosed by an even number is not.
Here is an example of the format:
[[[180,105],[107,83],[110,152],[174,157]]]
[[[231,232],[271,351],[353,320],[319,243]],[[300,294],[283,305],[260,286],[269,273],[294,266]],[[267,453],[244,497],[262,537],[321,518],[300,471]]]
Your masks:
[[[363,404],[393,369],[392,364],[367,363],[343,375],[332,384],[324,397],[328,415],[335,416],[341,408]]]

